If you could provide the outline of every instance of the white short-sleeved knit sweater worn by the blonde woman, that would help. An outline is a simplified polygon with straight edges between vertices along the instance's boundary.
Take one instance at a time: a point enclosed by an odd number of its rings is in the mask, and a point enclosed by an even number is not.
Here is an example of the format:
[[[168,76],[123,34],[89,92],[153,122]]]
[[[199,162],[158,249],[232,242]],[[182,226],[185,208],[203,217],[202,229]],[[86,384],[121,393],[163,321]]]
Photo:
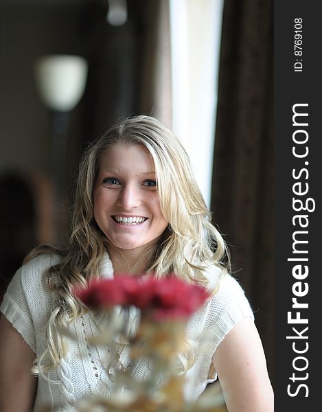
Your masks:
[[[1,304],[1,312],[36,356],[45,350],[45,327],[54,301],[54,294],[48,290],[46,270],[58,260],[54,255],[41,255],[22,266],[14,275]],[[113,277],[113,266],[107,253],[100,264],[100,275]],[[193,315],[187,326],[188,337],[211,331],[209,345],[199,342],[196,362],[187,372],[187,399],[196,399],[203,392],[209,382],[209,366],[216,348],[229,330],[245,317],[253,318],[249,301],[240,284],[226,275],[220,282],[218,293]],[[113,392],[114,384],[106,372],[106,347],[87,344],[87,339],[97,334],[94,317],[86,314],[78,318],[70,331],[77,339],[69,340],[69,354],[59,367],[51,371],[47,379],[38,378],[35,407],[46,404],[54,412],[77,411],[78,404],[94,393]],[[123,365],[129,364],[128,347],[122,351],[121,361]],[[138,363],[133,378],[143,380],[148,372],[148,363]]]

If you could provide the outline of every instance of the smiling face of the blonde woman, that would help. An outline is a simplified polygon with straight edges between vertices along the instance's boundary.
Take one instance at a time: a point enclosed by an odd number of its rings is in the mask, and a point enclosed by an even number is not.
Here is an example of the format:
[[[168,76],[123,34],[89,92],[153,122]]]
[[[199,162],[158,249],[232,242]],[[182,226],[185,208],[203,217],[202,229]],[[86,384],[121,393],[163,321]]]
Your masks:
[[[143,251],[168,225],[154,161],[142,144],[116,144],[102,153],[93,202],[97,225],[117,249]]]

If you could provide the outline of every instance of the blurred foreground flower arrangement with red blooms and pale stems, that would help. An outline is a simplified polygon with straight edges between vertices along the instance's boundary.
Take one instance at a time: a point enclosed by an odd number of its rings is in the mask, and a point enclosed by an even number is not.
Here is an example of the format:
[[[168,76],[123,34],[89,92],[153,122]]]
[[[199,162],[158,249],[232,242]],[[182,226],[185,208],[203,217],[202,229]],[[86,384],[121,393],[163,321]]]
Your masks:
[[[209,297],[205,288],[175,277],[142,279],[118,276],[115,279],[96,279],[87,288],[76,290],[75,294],[100,317],[102,332],[89,343],[106,345],[109,354],[113,354],[108,374],[115,383],[108,397],[97,395],[87,400],[80,411],[227,411],[218,385],[206,389],[196,401],[185,400],[185,374],[178,373],[177,354],[186,350],[187,321]],[[120,316],[115,308],[125,311],[139,309],[139,321],[134,331],[128,330],[128,318]],[[131,362],[127,366],[121,362],[115,336],[130,345]],[[152,366],[148,378],[137,382],[132,372],[143,358],[148,358]],[[160,385],[161,376],[165,377],[163,385]]]

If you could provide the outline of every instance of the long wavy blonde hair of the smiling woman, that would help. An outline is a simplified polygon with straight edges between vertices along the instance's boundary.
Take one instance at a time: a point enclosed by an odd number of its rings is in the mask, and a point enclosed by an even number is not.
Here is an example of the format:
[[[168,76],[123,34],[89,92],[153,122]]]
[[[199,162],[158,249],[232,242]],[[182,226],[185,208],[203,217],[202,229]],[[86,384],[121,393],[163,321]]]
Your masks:
[[[229,268],[225,241],[211,224],[211,214],[179,139],[153,117],[140,115],[122,119],[89,144],[80,161],[69,244],[64,251],[55,249],[62,255],[62,261],[49,269],[49,286],[56,290],[58,299],[47,326],[48,347],[35,371],[56,367],[67,354],[59,325],[68,325],[85,310],[74,299],[73,287],[84,286],[99,274],[99,262],[108,249],[108,239],[93,215],[93,187],[102,153],[115,144],[143,144],[154,160],[161,210],[169,225],[150,250],[149,259],[144,257],[148,262],[146,271],[152,271],[159,278],[174,273],[186,282],[205,287],[210,282],[216,291],[218,274],[227,273]],[[27,260],[48,250],[53,249],[40,247]],[[212,281],[209,276],[213,277]]]

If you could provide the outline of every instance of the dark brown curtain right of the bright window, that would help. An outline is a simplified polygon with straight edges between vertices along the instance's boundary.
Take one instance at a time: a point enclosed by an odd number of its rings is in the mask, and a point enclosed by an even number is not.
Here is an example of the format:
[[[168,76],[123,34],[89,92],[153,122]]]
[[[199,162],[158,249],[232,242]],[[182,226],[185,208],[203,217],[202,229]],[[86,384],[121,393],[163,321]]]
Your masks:
[[[211,196],[273,382],[273,1],[225,0]]]

